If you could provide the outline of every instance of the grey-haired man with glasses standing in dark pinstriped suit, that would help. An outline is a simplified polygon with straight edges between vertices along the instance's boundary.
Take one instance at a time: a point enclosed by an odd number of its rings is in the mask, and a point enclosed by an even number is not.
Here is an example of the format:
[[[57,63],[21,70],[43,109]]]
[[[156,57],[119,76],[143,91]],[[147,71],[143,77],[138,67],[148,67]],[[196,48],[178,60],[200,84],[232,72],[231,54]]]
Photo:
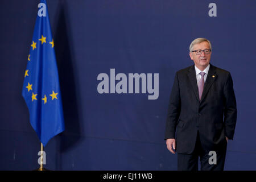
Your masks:
[[[228,139],[233,140],[237,108],[230,73],[210,64],[209,40],[189,47],[191,67],[176,72],[166,121],[166,144],[177,152],[178,170],[223,170]],[[176,133],[176,135],[175,135]]]

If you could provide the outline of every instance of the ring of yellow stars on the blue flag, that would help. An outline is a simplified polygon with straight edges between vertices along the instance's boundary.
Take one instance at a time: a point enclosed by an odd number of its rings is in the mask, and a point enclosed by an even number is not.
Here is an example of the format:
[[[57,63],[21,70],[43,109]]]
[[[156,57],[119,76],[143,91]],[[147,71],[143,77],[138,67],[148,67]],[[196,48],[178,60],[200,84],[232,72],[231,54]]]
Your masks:
[[[46,42],[46,37],[44,37],[43,35],[42,35],[41,38],[38,39],[38,40],[40,40],[41,44],[47,43],[47,42]],[[52,39],[52,42],[49,42],[49,44],[52,45],[52,48],[54,47],[53,39]],[[36,42],[32,41],[31,47],[32,47],[32,51],[34,51],[34,49],[36,49]],[[31,61],[31,60],[30,60],[30,55],[28,55],[27,60],[28,60],[28,61]],[[28,69],[25,71],[24,77],[26,77],[26,76],[29,76],[29,75],[28,75]],[[28,82],[26,88],[27,88],[27,92],[30,92],[30,90],[32,90],[32,84],[30,84],[30,83]],[[57,94],[59,94],[59,93],[55,93],[55,92],[52,90],[52,94],[49,94],[49,96],[52,97],[52,100],[54,100],[54,99],[57,100]],[[34,100],[36,100],[36,101],[38,100],[38,99],[36,98],[36,96],[38,96],[38,94],[32,92],[32,96],[31,96],[32,102],[33,102]],[[47,103],[46,94],[44,94],[44,98],[42,98],[42,100],[44,101],[44,104]]]

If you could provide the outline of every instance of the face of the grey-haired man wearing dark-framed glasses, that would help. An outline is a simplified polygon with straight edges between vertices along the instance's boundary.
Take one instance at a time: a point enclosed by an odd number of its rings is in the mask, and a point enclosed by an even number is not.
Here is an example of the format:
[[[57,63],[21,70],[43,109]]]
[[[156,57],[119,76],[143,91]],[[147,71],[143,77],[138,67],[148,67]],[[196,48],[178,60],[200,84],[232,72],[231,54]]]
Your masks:
[[[201,42],[199,44],[195,44],[193,46],[192,51],[196,51],[199,49],[200,50],[210,49],[209,43]],[[210,63],[210,55],[212,55],[212,52],[210,52],[209,54],[205,54],[203,51],[201,53],[201,55],[197,55],[196,52],[189,52],[189,56],[190,56],[191,60],[194,61],[197,68],[202,69],[201,71],[203,71]]]

